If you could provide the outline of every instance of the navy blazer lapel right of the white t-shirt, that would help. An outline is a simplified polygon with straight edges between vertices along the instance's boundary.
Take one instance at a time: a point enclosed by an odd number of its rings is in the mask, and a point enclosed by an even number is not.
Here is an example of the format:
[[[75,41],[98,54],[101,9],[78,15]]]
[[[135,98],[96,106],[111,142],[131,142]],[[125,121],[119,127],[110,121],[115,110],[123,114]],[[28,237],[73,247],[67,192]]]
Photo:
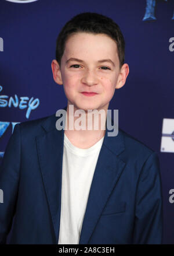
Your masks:
[[[106,127],[103,145],[90,186],[79,244],[88,244],[104,205],[125,167],[123,160],[117,156],[125,149],[124,135],[119,130],[117,136],[111,137],[107,136],[107,131]]]

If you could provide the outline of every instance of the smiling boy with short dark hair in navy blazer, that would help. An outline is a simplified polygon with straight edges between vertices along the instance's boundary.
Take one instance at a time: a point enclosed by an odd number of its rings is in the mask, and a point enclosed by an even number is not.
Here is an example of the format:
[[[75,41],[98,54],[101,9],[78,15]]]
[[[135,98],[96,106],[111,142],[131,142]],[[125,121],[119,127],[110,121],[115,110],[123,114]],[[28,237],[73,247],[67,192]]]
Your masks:
[[[124,48],[118,25],[97,13],[61,30],[52,72],[67,97],[67,129],[57,129],[55,114],[15,126],[0,170],[1,243],[12,219],[13,244],[162,242],[157,153],[121,129],[107,136],[109,102],[129,73]],[[88,110],[103,110],[101,127],[70,129],[77,110],[86,124]]]

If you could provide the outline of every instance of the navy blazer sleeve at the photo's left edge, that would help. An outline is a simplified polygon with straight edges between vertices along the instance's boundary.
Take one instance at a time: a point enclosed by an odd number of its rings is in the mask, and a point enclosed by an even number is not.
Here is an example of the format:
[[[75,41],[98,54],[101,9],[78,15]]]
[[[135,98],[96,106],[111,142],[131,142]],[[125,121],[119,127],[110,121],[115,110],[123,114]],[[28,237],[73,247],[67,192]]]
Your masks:
[[[0,244],[6,243],[12,226],[19,185],[20,154],[20,124],[16,124],[0,166],[0,188],[3,191],[3,203],[0,203]]]

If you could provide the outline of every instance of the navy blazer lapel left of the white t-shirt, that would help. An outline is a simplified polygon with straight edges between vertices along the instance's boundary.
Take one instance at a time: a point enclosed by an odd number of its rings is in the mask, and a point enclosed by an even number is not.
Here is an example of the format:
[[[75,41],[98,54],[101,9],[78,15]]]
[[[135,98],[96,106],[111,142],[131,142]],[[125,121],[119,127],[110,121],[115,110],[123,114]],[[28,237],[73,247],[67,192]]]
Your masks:
[[[63,163],[64,130],[56,129],[56,114],[42,124],[46,133],[37,136],[37,150],[42,180],[55,231],[55,243],[58,243],[61,209],[61,173]]]

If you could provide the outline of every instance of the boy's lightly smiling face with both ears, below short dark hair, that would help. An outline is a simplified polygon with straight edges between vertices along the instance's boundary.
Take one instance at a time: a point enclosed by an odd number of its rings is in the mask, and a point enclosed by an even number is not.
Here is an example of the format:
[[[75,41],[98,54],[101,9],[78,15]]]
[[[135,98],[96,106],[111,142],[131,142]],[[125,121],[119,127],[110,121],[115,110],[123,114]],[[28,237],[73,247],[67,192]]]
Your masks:
[[[68,105],[73,104],[74,110],[107,110],[115,88],[124,86],[129,67],[124,64],[119,69],[117,44],[106,34],[78,33],[66,41],[61,69],[53,60],[52,71],[55,82],[64,85]]]

